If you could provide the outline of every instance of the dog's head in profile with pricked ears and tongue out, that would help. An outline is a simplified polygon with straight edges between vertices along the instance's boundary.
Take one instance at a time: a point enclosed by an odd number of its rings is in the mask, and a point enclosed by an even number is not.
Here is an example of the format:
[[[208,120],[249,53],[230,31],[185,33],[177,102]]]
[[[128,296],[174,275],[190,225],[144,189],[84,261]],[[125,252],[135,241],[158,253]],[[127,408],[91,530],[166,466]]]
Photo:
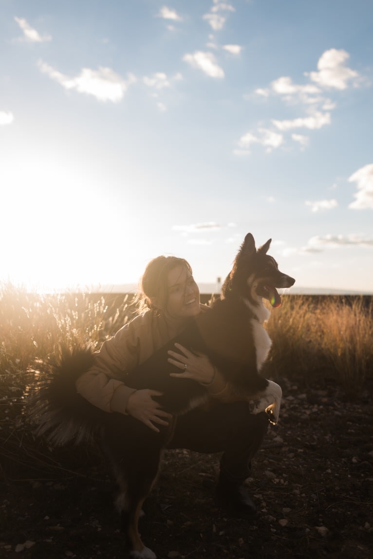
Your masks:
[[[262,247],[256,249],[252,234],[245,236],[234,260],[232,272],[221,290],[223,297],[232,293],[249,300],[252,305],[258,305],[262,299],[270,301],[272,307],[281,305],[277,289],[291,287],[295,280],[280,272],[276,260],[267,254],[271,240],[268,239]]]

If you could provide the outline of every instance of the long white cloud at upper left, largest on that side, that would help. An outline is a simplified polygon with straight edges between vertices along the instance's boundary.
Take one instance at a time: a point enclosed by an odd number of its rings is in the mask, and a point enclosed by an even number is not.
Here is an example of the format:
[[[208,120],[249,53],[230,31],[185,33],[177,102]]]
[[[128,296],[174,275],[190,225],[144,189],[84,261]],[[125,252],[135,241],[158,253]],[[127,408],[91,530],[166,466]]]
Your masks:
[[[99,67],[98,70],[82,68],[76,77],[69,77],[52,68],[42,60],[37,63],[40,72],[49,75],[51,79],[59,83],[67,90],[75,89],[79,93],[93,95],[99,101],[111,101],[118,103],[124,97],[129,84],[135,82],[135,77],[129,75],[124,80],[111,68]]]

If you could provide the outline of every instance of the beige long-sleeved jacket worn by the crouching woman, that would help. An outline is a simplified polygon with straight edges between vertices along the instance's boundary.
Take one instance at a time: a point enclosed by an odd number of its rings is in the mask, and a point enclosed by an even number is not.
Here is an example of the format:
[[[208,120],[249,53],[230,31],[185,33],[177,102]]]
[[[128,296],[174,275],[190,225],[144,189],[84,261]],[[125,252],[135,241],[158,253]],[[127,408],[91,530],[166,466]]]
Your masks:
[[[202,311],[207,308],[201,305]],[[135,389],[126,386],[120,379],[152,356],[172,337],[162,315],[157,316],[149,310],[136,316],[95,352],[95,366],[76,382],[78,393],[97,408],[126,414],[129,396]],[[213,398],[220,401],[237,400],[219,371],[216,371],[213,382],[205,386]]]

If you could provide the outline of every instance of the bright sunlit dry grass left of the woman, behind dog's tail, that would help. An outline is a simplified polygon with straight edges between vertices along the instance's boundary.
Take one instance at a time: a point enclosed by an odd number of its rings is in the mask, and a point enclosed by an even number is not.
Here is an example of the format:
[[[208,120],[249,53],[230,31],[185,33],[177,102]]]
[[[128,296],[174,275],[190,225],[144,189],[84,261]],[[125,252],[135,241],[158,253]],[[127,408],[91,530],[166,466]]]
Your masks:
[[[9,386],[21,388],[27,369],[54,353],[62,342],[99,344],[129,320],[128,295],[29,293],[0,285],[0,398]]]

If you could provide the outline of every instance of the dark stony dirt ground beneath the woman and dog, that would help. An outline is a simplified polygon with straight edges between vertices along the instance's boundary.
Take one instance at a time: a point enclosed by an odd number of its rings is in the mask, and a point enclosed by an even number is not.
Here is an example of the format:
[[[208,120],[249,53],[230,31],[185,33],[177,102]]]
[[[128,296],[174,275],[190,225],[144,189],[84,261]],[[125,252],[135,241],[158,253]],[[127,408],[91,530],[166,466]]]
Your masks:
[[[219,456],[167,451],[140,520],[159,559],[373,557],[369,393],[346,402],[335,387],[281,384],[280,421],[268,430],[247,481],[257,518],[229,518],[215,505]],[[50,451],[48,471],[43,456],[38,469],[35,454],[25,458],[24,449],[19,459],[0,452],[0,557],[126,557],[115,485],[101,454]]]

